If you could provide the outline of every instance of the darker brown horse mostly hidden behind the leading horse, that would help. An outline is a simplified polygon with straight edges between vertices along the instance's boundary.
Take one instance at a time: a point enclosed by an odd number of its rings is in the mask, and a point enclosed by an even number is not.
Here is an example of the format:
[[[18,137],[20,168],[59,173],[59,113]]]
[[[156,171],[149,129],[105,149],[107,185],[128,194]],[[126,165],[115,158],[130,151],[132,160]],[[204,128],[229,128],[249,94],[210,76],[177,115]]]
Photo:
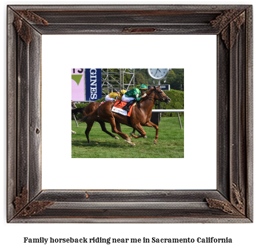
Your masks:
[[[99,104],[100,104],[99,102],[91,102],[86,107],[74,108],[73,110],[71,110],[71,114],[77,114],[78,112],[80,112],[82,114],[82,116],[85,117],[86,115],[89,115],[91,112],[97,110],[99,107]],[[105,132],[106,134],[110,135],[111,137],[113,137],[115,139],[119,139],[118,136],[113,135],[109,131],[107,131],[105,122],[103,122],[99,118],[96,119],[95,121],[101,125],[101,129],[103,132]],[[90,143],[89,133],[91,131],[91,127],[93,127],[93,123],[89,123],[89,124],[87,123],[85,135],[86,135],[88,143]],[[121,130],[121,127],[120,127],[120,130]],[[135,130],[133,130],[133,132],[131,134],[134,134],[134,132],[135,132]]]

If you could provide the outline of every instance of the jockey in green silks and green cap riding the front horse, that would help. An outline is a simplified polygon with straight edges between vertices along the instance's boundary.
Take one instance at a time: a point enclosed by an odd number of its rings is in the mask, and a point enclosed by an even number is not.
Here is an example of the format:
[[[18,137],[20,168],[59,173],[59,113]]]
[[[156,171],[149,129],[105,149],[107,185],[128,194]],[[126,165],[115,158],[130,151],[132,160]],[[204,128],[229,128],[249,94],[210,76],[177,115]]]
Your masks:
[[[145,84],[141,84],[139,88],[134,88],[133,90],[126,92],[125,95],[123,95],[122,97],[122,101],[127,102],[126,106],[123,107],[123,110],[126,110],[127,112],[129,112],[130,105],[135,102],[139,102],[143,97],[145,97],[146,91],[147,91],[147,86]]]

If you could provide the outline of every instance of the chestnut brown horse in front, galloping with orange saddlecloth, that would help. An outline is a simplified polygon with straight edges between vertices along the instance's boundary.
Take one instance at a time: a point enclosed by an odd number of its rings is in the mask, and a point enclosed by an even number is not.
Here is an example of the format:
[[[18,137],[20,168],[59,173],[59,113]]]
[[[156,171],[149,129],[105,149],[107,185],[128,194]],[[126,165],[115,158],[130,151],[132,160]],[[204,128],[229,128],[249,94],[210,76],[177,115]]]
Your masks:
[[[146,132],[141,126],[154,127],[155,139],[154,143],[157,143],[158,139],[158,126],[150,122],[152,108],[154,106],[155,100],[160,100],[161,102],[170,103],[171,99],[161,90],[160,86],[152,87],[147,91],[147,95],[133,107],[130,116],[131,127],[135,128],[140,135],[132,135],[135,139],[140,137],[145,137]],[[128,135],[122,133],[119,130],[120,123],[129,126],[127,121],[127,116],[112,112],[111,109],[114,106],[114,102],[105,102],[98,107],[97,110],[91,112],[89,115],[86,115],[81,122],[86,122],[87,124],[93,123],[99,117],[104,122],[108,122],[111,125],[112,132],[121,136],[127,143],[134,146],[134,143],[131,143],[131,139]]]

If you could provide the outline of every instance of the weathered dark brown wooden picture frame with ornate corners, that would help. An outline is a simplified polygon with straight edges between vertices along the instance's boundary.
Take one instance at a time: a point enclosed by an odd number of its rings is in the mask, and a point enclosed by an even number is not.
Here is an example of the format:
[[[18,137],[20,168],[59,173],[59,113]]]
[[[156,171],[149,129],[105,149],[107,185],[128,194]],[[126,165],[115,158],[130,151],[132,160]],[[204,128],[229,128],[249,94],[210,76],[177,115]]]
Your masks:
[[[7,6],[7,221],[252,222],[252,18],[250,5]],[[42,34],[217,35],[217,190],[42,190]]]

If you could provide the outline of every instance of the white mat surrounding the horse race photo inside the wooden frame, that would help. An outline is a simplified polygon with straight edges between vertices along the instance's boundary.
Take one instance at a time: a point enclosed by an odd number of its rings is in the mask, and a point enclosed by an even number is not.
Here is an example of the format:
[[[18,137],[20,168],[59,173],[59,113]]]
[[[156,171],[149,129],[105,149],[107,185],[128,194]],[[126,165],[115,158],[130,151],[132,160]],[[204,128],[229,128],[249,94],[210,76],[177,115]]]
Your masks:
[[[185,158],[71,159],[70,68],[93,67],[184,68]],[[216,189],[216,68],[215,35],[42,35],[42,188]]]

